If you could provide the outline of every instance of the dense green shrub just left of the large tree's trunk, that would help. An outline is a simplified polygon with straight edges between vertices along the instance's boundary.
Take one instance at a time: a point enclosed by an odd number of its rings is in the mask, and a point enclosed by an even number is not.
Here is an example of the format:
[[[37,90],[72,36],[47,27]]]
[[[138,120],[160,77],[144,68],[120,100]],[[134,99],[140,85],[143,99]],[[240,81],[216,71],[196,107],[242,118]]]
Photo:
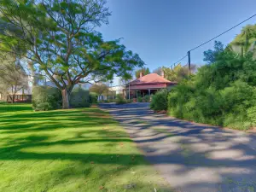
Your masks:
[[[48,111],[61,108],[61,91],[55,87],[35,86],[32,90],[32,108]]]

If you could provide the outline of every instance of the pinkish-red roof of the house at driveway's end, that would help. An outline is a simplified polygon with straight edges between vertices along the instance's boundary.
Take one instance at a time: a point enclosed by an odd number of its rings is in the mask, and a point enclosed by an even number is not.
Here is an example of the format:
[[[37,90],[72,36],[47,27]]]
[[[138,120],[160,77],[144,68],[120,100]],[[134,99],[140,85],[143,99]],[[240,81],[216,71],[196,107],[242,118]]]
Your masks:
[[[132,84],[176,84],[176,82],[169,81],[164,79],[160,75],[156,73],[147,74],[139,79],[131,81]]]

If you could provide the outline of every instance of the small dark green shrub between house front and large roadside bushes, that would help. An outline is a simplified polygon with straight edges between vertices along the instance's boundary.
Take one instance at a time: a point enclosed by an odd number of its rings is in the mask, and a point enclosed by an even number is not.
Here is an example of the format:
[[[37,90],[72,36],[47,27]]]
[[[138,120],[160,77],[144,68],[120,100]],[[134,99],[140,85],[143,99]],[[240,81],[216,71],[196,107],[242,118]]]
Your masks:
[[[157,91],[152,97],[152,101],[150,102],[150,108],[152,108],[154,111],[167,110],[167,96],[168,91],[166,89]]]

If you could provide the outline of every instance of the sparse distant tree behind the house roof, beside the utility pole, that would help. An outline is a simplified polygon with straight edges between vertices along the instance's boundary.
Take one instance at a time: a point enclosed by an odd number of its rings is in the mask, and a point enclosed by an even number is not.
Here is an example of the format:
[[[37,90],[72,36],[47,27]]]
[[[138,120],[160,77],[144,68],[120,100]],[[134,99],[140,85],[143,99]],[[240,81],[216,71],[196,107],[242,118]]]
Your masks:
[[[191,73],[195,73],[196,66],[191,64]],[[180,82],[183,79],[189,79],[189,66],[182,66],[180,63],[175,67],[163,67],[165,78],[170,81]]]

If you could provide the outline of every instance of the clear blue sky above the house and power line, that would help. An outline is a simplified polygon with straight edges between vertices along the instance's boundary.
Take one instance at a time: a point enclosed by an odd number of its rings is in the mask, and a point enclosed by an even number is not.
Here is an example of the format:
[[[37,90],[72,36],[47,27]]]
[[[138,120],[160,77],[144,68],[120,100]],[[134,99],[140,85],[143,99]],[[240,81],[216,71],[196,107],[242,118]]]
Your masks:
[[[103,38],[124,38],[121,43],[151,71],[256,14],[255,0],[108,0],[108,7],[109,25],[99,29]],[[255,23],[256,17],[217,40],[228,44],[242,26]],[[213,42],[191,52],[191,62],[203,64],[203,51],[212,47]]]

